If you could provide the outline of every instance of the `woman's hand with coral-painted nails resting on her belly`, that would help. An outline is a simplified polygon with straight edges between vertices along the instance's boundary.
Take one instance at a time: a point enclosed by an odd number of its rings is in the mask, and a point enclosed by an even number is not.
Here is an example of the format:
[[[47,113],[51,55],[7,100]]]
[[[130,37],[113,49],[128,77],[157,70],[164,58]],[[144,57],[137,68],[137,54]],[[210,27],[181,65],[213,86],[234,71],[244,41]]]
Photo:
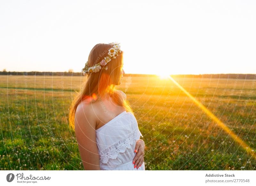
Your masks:
[[[137,167],[138,169],[144,162],[144,151],[145,151],[145,143],[142,139],[139,139],[135,145],[134,152],[136,152],[136,155],[132,161],[132,163],[134,164],[134,168]]]

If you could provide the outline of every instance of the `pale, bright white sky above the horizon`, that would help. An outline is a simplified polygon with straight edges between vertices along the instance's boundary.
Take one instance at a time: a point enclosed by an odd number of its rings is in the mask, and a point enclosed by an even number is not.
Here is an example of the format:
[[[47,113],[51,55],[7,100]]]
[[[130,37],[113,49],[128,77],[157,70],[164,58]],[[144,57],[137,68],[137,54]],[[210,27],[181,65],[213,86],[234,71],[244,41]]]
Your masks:
[[[81,72],[118,42],[126,74],[256,74],[256,1],[0,1],[0,71]]]

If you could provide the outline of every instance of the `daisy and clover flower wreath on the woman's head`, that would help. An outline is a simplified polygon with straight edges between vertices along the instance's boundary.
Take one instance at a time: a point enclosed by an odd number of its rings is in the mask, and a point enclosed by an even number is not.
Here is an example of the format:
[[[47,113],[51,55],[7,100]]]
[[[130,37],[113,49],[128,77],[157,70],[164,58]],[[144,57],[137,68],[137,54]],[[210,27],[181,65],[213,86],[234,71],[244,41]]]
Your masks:
[[[112,42],[112,43],[108,43],[108,44],[113,45],[113,47],[108,50],[108,56],[105,57],[104,59],[102,59],[96,65],[93,65],[91,67],[89,66],[88,61],[87,61],[85,63],[84,68],[82,69],[82,72],[84,75],[99,72],[101,69],[101,66],[105,66],[105,67],[102,67],[102,69],[108,70],[108,67],[106,66],[108,64],[108,62],[111,61],[111,59],[113,59],[113,58],[115,59],[116,56],[118,56],[118,52],[121,52],[120,45],[119,45],[120,43]]]

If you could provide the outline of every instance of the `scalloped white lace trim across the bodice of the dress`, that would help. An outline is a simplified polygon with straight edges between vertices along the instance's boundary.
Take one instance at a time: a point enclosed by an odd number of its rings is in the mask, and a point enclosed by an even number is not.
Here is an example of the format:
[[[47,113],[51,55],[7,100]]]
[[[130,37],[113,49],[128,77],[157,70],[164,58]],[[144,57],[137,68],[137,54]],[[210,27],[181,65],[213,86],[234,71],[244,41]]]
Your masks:
[[[140,139],[140,134],[139,129],[136,129],[132,131],[129,136],[123,138],[114,145],[111,145],[107,149],[104,149],[100,153],[100,165],[102,163],[108,163],[108,159],[116,159],[120,152],[125,152],[127,148],[131,148],[131,144],[134,140]]]

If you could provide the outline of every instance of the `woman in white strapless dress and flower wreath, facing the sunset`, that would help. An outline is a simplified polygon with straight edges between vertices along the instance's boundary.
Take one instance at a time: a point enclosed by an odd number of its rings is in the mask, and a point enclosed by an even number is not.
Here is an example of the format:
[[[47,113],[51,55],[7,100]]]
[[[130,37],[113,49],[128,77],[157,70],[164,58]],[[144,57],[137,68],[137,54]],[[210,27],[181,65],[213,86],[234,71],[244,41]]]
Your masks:
[[[87,81],[70,106],[69,125],[84,169],[145,170],[137,120],[126,95],[115,87],[124,74],[120,45],[96,44],[83,72]]]

